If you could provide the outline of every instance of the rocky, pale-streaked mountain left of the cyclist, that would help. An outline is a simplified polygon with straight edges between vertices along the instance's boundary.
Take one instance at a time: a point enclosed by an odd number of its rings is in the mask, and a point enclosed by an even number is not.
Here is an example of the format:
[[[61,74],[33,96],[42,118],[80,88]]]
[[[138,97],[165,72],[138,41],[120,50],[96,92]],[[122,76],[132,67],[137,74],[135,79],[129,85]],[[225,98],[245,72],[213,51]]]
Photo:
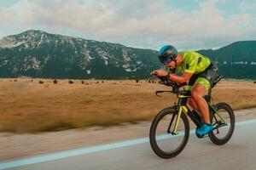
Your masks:
[[[148,77],[157,51],[26,31],[0,40],[0,77]]]

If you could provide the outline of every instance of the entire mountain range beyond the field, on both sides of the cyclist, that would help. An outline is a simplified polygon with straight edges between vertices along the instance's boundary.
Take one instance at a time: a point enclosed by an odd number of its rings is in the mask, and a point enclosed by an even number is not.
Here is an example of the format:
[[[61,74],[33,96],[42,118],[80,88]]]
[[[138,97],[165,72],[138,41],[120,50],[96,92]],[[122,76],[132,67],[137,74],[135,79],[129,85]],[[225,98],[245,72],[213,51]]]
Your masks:
[[[256,79],[256,41],[198,52],[229,78]],[[146,78],[158,52],[29,30],[0,40],[0,77]]]

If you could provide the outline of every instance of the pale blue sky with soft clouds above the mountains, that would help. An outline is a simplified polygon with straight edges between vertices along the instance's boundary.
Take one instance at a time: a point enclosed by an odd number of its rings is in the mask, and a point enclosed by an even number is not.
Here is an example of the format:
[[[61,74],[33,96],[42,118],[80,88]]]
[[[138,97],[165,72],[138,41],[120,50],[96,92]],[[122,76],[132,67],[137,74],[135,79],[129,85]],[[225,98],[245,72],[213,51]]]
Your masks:
[[[30,29],[134,48],[256,40],[256,0],[0,0],[0,38]]]

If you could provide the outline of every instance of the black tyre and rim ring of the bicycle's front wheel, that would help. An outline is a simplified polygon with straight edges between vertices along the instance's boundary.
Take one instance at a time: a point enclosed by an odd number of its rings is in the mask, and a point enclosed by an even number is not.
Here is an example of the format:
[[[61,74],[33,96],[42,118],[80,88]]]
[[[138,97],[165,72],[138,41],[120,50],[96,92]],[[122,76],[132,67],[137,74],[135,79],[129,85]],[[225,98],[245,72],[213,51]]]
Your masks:
[[[175,110],[172,107],[169,107],[169,108],[166,108],[166,109],[160,111],[160,113],[154,117],[154,121],[151,124],[150,132],[149,132],[149,140],[150,140],[150,145],[152,147],[152,150],[154,150],[154,153],[157,156],[160,156],[161,158],[165,158],[165,159],[170,159],[172,157],[177,156],[179,153],[181,153],[181,151],[184,149],[184,147],[186,146],[186,144],[188,143],[188,140],[189,140],[189,120],[188,120],[187,116],[185,116],[185,114],[182,113],[181,119],[179,121],[179,123],[181,123],[181,120],[183,121],[183,131],[184,131],[183,135],[180,135],[180,136],[182,136],[181,138],[183,138],[181,144],[178,145],[176,150],[172,150],[172,151],[170,151],[170,150],[165,151],[160,148],[158,141],[156,139],[156,130],[157,130],[158,124],[160,123],[161,119],[164,116],[166,116],[166,115],[169,116],[169,115],[173,115],[173,114],[176,114],[176,116],[177,116],[177,113],[175,112]],[[174,120],[176,120],[176,116],[175,116]],[[170,133],[170,135],[172,135],[172,134]],[[170,139],[170,140],[172,140],[172,139]]]

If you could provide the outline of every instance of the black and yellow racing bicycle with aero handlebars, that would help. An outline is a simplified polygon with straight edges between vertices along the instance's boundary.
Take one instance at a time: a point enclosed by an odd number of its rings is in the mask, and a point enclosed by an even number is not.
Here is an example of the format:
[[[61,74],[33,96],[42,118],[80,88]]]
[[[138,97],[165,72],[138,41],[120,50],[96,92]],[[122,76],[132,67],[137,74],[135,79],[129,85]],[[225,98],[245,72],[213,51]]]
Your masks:
[[[154,153],[165,159],[177,156],[185,148],[189,140],[189,133],[195,133],[195,129],[201,127],[201,114],[195,110],[190,111],[187,106],[187,101],[191,97],[190,92],[185,90],[186,83],[178,84],[172,82],[166,77],[160,78],[160,83],[172,87],[172,90],[160,90],[155,94],[160,96],[160,93],[177,94],[177,103],[160,111],[155,117],[150,127],[149,140]],[[218,76],[213,82],[212,88],[220,81],[222,77]],[[196,136],[201,138],[209,137],[213,144],[226,144],[235,128],[235,116],[230,105],[221,102],[216,105],[212,102],[212,88],[208,94],[204,96],[207,100],[210,112],[210,121],[213,125],[213,130],[207,135]],[[195,129],[190,132],[189,119],[194,122]]]

